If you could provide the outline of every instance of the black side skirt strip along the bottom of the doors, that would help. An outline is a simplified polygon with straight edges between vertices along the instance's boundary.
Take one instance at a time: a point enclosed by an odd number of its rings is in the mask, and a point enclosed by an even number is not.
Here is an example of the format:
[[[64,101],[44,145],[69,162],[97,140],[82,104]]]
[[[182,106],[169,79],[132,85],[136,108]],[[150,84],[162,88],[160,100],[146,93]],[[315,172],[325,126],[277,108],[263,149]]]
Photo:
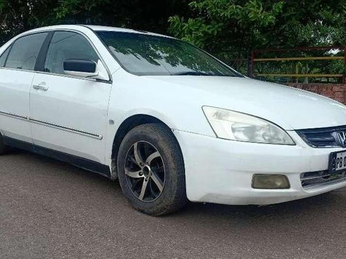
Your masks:
[[[44,148],[43,146],[37,146],[35,144],[23,142],[21,140],[15,140],[12,137],[2,136],[2,139],[3,139],[3,144],[6,144],[8,146],[23,149],[33,153],[37,153],[39,155],[44,155],[46,157],[51,157],[51,158],[54,158],[55,160],[67,162],[69,164],[73,164],[74,166],[78,166],[82,169],[86,169],[88,171],[92,171],[93,173],[98,173],[107,178],[111,178],[111,172],[109,171],[109,166],[105,164],[100,164],[92,160],[87,160],[83,157],[69,155],[66,153],[62,153],[60,151],[55,151],[50,148]]]

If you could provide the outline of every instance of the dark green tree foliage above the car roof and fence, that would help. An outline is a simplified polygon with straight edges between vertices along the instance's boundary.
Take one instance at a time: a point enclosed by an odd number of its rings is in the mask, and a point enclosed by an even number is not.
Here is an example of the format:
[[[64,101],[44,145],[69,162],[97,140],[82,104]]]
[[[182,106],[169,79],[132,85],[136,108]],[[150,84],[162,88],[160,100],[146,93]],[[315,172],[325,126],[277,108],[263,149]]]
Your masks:
[[[170,32],[208,50],[345,45],[346,0],[0,0],[0,41],[57,23]]]

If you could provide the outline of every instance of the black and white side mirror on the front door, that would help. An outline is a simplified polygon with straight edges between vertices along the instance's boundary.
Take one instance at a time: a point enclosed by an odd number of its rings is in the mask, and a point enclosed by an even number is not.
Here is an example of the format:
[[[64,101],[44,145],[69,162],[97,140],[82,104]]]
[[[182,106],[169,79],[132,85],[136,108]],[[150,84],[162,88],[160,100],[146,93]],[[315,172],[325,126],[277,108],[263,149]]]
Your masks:
[[[87,59],[66,59],[64,61],[64,73],[77,77],[98,76],[97,64]]]

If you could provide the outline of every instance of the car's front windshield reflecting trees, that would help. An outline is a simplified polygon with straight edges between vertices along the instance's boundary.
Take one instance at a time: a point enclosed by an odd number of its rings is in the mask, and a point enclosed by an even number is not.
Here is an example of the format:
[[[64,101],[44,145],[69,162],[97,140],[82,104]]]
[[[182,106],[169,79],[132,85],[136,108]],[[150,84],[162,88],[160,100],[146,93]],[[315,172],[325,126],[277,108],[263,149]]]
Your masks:
[[[131,32],[96,33],[122,67],[135,75],[242,76],[203,50],[178,39]]]

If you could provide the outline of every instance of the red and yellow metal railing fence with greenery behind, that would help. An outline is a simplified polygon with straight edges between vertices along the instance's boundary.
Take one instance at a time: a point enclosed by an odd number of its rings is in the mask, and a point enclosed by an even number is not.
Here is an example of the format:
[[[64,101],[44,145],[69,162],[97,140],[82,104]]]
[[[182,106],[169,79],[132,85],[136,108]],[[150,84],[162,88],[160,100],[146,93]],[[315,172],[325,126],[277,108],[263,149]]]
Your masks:
[[[346,84],[346,46],[224,51],[216,56],[239,72],[266,81]]]

